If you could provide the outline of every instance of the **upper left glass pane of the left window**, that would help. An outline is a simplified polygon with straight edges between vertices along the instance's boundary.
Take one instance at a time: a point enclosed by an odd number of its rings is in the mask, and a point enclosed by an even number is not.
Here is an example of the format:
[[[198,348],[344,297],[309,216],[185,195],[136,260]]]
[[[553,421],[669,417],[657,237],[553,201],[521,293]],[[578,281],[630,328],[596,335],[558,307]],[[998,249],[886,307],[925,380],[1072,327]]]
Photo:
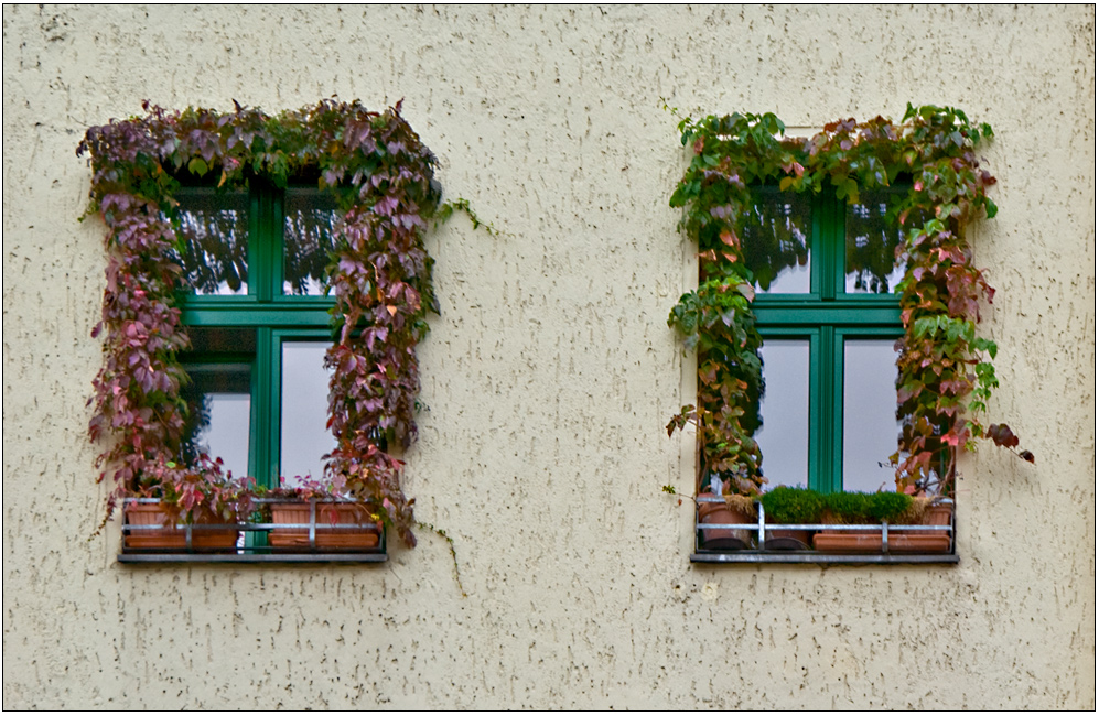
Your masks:
[[[248,293],[248,194],[181,192],[184,279],[200,295]]]

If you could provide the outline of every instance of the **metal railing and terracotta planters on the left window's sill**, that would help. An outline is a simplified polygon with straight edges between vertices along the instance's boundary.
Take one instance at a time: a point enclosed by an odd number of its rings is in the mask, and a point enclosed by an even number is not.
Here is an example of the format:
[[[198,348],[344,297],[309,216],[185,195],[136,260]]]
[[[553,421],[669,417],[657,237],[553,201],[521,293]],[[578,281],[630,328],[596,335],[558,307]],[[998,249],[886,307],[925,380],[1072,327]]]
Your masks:
[[[344,500],[258,498],[254,518],[195,523],[172,518],[154,498],[126,498],[119,562],[385,562],[386,531],[366,508]]]

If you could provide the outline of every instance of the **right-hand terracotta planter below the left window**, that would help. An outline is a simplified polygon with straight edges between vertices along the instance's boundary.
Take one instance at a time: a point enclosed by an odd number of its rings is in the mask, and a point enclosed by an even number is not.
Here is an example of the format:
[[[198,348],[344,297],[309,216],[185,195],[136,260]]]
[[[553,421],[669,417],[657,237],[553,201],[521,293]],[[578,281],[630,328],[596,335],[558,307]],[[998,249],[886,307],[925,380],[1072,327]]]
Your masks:
[[[276,524],[309,524],[309,502],[271,505]],[[333,519],[334,518],[334,519]],[[357,529],[333,529],[333,524],[362,524]],[[370,550],[381,541],[381,528],[369,511],[355,502],[317,502],[314,546],[319,550]],[[274,547],[309,550],[309,528],[273,528],[268,543]]]

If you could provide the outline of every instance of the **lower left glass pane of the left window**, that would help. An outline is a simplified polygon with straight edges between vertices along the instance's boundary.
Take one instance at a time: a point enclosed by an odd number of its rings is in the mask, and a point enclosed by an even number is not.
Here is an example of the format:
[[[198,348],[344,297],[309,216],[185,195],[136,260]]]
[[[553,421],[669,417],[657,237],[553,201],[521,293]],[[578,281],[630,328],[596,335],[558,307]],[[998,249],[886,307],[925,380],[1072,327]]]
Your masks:
[[[198,364],[186,366],[191,382],[181,389],[187,402],[183,458],[193,464],[200,453],[220,457],[223,469],[248,475],[251,435],[251,366]]]

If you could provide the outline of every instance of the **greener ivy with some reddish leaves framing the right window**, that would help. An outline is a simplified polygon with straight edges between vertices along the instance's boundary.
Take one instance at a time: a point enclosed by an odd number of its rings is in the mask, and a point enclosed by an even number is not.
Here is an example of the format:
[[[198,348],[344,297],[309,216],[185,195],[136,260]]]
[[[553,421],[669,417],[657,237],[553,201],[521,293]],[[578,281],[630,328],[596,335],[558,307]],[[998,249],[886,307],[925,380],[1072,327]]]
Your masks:
[[[998,386],[996,346],[977,334],[977,324],[994,290],[973,263],[967,228],[981,215],[996,214],[988,196],[995,178],[976,154],[993,137],[991,127],[950,107],[909,105],[899,123],[847,119],[808,139],[785,137],[773,113],[686,118],[679,131],[693,158],[670,204],[683,209],[680,229],[698,241],[700,284],[683,294],[668,322],[698,350],[699,390],[698,404],[675,415],[668,432],[697,426],[700,479],[722,474],[744,495],[765,482],[753,438],[764,380],[752,302],[755,282],[767,276],[753,274],[742,241],[753,221],[752,187],[762,184],[834,192],[850,204],[859,202],[860,191],[907,187],[896,210],[906,229],[897,248],[906,267],[897,286],[904,325],[897,359],[903,428],[891,458],[897,489],[949,493],[957,447],[972,449],[979,437],[1019,445],[1010,427],[981,420]],[[942,453],[947,462],[937,469]],[[1019,455],[1034,459],[1028,451]]]

